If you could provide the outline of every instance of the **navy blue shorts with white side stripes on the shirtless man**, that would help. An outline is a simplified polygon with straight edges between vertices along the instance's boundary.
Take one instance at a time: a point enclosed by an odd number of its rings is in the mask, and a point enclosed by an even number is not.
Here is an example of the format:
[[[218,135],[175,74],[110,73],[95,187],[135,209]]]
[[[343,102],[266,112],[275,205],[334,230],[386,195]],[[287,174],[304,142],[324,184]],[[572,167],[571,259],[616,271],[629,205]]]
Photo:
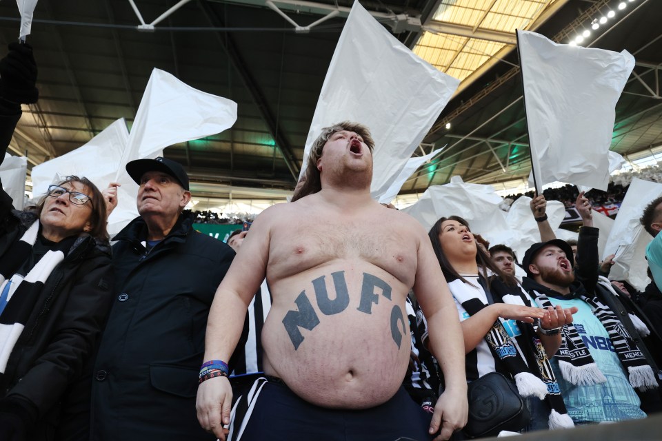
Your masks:
[[[403,387],[370,409],[327,409],[279,380],[257,380],[232,409],[229,441],[429,441],[432,414]]]

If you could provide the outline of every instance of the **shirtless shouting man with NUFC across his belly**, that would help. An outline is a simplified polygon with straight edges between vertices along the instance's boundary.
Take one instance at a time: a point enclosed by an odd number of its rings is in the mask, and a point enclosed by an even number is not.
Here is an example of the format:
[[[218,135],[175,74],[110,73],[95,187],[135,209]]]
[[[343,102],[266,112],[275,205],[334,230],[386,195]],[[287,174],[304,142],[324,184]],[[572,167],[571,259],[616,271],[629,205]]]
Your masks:
[[[423,227],[370,198],[373,144],[357,123],[323,130],[299,200],[255,220],[223,278],[208,320],[210,367],[201,371],[197,398],[201,426],[221,440],[232,399],[222,360],[232,354],[265,275],[273,297],[262,332],[270,377],[239,399],[237,409],[252,413],[233,411],[230,440],[423,441],[440,430],[434,440],[447,440],[466,423],[457,311]],[[432,422],[401,386],[410,358],[410,289],[445,376]]]

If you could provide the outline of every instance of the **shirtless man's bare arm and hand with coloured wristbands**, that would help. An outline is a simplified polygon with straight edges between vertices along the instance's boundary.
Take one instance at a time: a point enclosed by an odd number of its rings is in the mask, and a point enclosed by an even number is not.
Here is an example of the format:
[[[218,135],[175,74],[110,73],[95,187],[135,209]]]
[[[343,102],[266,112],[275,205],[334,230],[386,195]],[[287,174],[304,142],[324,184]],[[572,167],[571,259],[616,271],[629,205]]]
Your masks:
[[[282,207],[265,209],[248,234],[216,291],[207,322],[205,358],[228,362],[241,337],[243,320],[250,300],[257,292],[268,262],[270,218]],[[223,424],[230,424],[232,387],[225,377],[205,380],[198,387],[198,420],[207,431],[225,440]]]

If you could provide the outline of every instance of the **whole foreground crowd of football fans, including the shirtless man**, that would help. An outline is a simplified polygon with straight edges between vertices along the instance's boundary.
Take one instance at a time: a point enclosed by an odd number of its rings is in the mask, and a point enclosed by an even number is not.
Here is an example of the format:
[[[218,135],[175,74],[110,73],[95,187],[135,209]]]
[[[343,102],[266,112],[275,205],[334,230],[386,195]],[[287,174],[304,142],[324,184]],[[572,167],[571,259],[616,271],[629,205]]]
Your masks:
[[[0,163],[38,99],[32,48],[9,48]],[[425,232],[374,201],[373,149],[365,125],[325,127],[294,202],[228,245],[192,225],[251,216],[185,210],[169,158],[126,164],[139,216],[112,249],[119,184],[69,176],[23,212],[0,187],[0,440],[459,441],[662,413],[662,197],[634,296],[592,216],[628,177],[531,194],[541,242],[518,261],[459,216]],[[546,199],[579,213],[574,249]]]

